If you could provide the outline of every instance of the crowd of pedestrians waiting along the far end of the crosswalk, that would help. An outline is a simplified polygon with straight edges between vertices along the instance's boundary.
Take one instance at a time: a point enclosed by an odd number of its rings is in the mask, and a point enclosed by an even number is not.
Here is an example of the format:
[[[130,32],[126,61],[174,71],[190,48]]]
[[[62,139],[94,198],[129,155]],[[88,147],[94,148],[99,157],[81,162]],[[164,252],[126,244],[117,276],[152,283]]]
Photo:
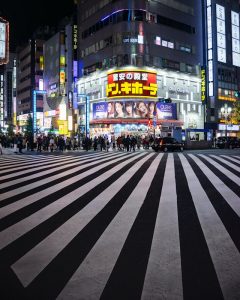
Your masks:
[[[90,150],[94,151],[135,151],[136,149],[149,149],[154,139],[152,136],[118,136],[115,135],[104,135],[95,136],[94,138],[89,137],[64,137],[64,136],[53,136],[53,135],[38,135],[36,140],[33,137],[23,136],[22,134],[15,134],[13,136],[0,135],[0,154],[2,154],[2,148],[13,148],[15,153],[22,153],[23,149],[27,151],[42,152],[42,151],[68,151],[68,150]]]

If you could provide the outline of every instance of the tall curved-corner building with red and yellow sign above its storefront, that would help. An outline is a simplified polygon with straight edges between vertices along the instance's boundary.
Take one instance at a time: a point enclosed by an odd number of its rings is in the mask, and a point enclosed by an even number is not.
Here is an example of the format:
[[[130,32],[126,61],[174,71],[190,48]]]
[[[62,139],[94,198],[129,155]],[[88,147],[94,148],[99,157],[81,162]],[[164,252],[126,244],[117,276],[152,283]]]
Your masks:
[[[190,0],[79,0],[80,129],[203,129],[201,11]]]

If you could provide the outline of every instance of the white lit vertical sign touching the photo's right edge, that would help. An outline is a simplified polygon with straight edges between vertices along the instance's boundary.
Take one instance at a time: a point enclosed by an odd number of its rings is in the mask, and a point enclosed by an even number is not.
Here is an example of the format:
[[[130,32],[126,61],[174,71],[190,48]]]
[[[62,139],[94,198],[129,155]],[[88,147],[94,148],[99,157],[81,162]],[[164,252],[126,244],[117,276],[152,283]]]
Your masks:
[[[239,14],[231,11],[232,24],[232,64],[240,67],[240,38],[239,38]]]

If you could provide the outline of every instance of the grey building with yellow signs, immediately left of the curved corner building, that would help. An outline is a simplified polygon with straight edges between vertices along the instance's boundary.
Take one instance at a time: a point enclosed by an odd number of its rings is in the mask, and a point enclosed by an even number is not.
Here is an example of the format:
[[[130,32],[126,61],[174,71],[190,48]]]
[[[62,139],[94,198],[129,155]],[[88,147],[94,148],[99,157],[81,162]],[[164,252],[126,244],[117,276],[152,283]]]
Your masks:
[[[64,19],[44,43],[44,130],[71,135],[74,131],[74,78],[77,78],[76,22]]]

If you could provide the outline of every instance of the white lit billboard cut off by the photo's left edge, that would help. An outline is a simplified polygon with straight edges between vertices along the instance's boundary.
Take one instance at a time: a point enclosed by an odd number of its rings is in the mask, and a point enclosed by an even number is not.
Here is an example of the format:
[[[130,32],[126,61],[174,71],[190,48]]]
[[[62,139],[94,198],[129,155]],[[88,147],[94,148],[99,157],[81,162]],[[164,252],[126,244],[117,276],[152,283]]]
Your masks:
[[[0,18],[0,65],[7,64],[9,57],[9,23]]]

